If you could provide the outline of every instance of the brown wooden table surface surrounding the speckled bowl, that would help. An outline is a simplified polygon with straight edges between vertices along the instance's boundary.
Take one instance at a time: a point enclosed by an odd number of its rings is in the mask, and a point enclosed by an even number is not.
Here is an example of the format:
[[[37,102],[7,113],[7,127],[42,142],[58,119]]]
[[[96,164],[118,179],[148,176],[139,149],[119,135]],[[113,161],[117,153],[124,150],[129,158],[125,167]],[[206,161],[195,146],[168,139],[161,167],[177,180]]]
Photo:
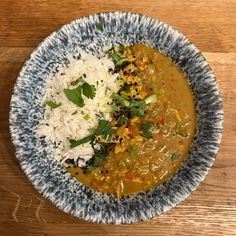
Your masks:
[[[212,66],[224,101],[223,140],[212,170],[191,197],[149,222],[97,225],[58,210],[31,185],[10,141],[9,102],[26,58],[55,29],[102,11],[143,13],[174,26]],[[0,1],[0,235],[236,235],[235,0]]]

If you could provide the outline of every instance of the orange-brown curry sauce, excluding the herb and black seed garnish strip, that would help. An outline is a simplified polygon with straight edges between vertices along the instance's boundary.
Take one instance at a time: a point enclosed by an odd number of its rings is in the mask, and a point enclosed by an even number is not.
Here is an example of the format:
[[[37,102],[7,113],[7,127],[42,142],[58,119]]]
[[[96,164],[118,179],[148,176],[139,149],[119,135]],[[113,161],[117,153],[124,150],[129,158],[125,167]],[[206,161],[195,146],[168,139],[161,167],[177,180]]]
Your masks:
[[[157,101],[148,106],[145,116],[133,117],[126,128],[119,128],[128,132],[129,138],[122,146],[125,149],[120,151],[116,146],[90,172],[67,168],[83,184],[118,198],[168,180],[187,158],[196,130],[194,97],[180,69],[146,45],[133,45],[127,54],[139,70],[144,92],[155,94]],[[120,73],[120,77],[125,76]],[[149,138],[140,135],[142,124],[152,124],[148,127]]]

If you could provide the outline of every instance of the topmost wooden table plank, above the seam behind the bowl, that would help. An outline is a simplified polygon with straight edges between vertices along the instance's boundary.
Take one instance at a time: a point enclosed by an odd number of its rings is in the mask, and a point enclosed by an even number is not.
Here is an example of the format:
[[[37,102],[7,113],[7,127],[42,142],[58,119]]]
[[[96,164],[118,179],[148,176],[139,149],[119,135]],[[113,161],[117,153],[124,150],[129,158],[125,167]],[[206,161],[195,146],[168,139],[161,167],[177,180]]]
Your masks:
[[[131,11],[169,23],[200,50],[234,52],[235,9],[234,0],[2,0],[0,45],[35,47],[54,30],[81,16],[96,12]]]

